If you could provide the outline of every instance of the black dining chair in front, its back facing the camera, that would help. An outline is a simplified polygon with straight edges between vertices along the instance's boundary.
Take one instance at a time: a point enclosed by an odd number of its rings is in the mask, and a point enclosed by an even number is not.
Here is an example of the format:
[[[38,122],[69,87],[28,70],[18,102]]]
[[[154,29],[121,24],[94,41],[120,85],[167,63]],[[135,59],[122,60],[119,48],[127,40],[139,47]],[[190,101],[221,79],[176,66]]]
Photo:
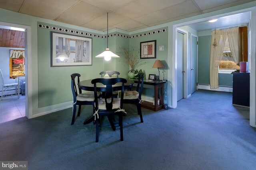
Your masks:
[[[120,98],[113,97],[113,87],[112,85],[121,82],[122,83],[122,90]],[[120,140],[123,141],[123,98],[124,98],[124,83],[127,80],[124,78],[96,78],[92,80],[92,84],[94,84],[94,97],[97,98],[97,84],[102,83],[106,85],[105,89],[105,98],[98,98],[95,100],[95,110],[94,110],[94,120],[96,124],[96,142],[99,141],[99,126],[100,126],[100,117],[101,116],[108,116],[108,120],[110,124],[115,130],[114,123],[110,116],[118,115],[119,117],[119,126],[120,126]]]

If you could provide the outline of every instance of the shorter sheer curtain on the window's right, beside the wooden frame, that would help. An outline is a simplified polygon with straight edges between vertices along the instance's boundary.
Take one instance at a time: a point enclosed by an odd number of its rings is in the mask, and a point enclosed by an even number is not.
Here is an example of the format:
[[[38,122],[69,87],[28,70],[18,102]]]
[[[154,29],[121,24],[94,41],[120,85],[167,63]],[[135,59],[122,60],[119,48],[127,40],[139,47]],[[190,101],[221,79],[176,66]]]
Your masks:
[[[239,27],[228,29],[228,42],[230,46],[230,51],[236,62],[240,62],[240,37],[239,37]]]

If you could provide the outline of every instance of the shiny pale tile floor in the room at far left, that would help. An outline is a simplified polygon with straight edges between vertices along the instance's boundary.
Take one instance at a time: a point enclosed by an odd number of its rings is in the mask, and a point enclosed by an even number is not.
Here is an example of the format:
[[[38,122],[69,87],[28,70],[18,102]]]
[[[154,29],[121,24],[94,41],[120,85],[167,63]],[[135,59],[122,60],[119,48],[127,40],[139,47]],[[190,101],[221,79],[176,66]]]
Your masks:
[[[0,123],[25,116],[25,95],[5,96],[0,98]]]

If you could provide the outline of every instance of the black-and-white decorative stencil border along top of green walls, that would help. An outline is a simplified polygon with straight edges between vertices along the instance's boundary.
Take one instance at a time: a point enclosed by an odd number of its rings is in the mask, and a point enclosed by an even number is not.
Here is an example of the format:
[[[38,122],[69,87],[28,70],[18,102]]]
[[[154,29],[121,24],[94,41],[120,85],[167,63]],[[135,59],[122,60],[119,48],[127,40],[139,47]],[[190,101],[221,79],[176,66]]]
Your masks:
[[[50,25],[40,24],[40,23],[38,23],[38,27],[39,28],[46,28],[46,29],[50,29],[50,30],[61,31],[61,32],[67,32],[67,33],[97,37],[97,38],[107,38],[107,36],[102,36],[100,34],[92,34],[90,32],[83,32],[83,31],[72,30],[72,29],[67,29],[67,28],[57,27],[57,26],[50,26]],[[135,34],[135,35],[132,35],[132,36],[128,36],[128,35],[121,34],[121,33],[113,33],[113,34],[108,35],[108,37],[119,36],[119,37],[124,37],[124,38],[137,38],[137,37],[141,37],[141,36],[148,36],[148,35],[163,33],[163,32],[167,32],[167,31],[168,31],[167,28],[164,28],[164,29],[162,28],[162,29],[159,29],[159,30],[144,32],[142,34]]]

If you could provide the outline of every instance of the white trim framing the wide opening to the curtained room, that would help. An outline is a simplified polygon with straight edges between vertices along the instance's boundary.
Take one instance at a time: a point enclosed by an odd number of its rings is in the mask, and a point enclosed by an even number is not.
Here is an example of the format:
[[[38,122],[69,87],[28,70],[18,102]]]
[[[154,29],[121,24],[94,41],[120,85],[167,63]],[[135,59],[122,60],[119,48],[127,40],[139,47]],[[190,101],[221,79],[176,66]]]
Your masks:
[[[240,14],[242,12],[250,12],[250,24],[249,24],[249,33],[248,33],[248,39],[249,39],[249,44],[250,46],[255,46],[256,44],[256,8],[252,7],[252,8],[247,8],[247,9],[242,9],[239,11],[233,11],[233,12],[228,12],[226,14],[219,14],[218,16],[209,16],[206,18],[200,18],[197,20],[193,20],[193,21],[188,21],[188,22],[183,22],[183,23],[179,23],[179,24],[174,24],[173,25],[173,38],[172,38],[172,54],[173,54],[173,58],[172,58],[172,108],[176,108],[177,107],[177,100],[176,99],[176,95],[177,95],[177,46],[176,46],[176,42],[177,42],[177,30],[179,27],[182,26],[188,26],[190,24],[201,24],[202,22],[208,22],[208,20],[211,20],[212,18],[216,17],[216,18],[220,18],[220,17],[224,17],[224,16],[230,16],[233,14]],[[256,65],[255,65],[255,60],[256,58],[253,57],[256,55],[255,49],[254,48],[250,48],[248,47],[248,53],[250,54],[250,56],[252,56],[250,58],[250,126],[256,127],[256,108],[255,108],[255,103],[256,103],[256,99],[255,99],[255,70],[256,70]],[[169,73],[168,73],[169,74]],[[171,74],[171,72],[170,72]]]

